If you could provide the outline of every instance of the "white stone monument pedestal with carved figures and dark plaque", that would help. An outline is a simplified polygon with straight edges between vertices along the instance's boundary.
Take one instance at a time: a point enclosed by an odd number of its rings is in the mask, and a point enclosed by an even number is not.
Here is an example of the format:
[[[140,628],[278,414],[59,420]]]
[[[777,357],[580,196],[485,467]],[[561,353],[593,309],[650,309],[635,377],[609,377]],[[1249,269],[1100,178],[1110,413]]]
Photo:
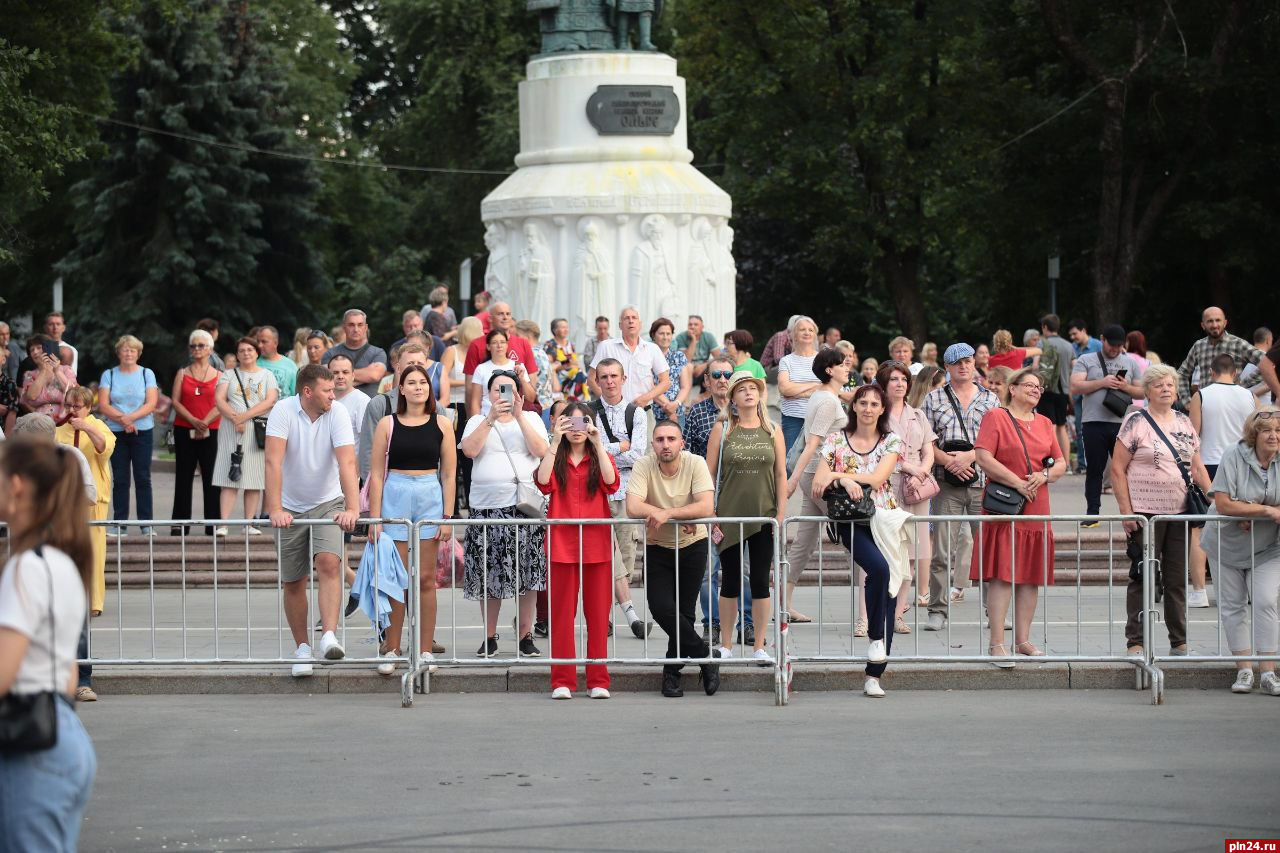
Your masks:
[[[589,115],[590,113],[590,115]],[[640,309],[643,332],[690,314],[736,320],[728,193],[692,165],[685,81],[666,54],[532,59],[520,85],[516,172],[485,197],[485,289],[518,319],[566,318],[581,345],[598,315]]]

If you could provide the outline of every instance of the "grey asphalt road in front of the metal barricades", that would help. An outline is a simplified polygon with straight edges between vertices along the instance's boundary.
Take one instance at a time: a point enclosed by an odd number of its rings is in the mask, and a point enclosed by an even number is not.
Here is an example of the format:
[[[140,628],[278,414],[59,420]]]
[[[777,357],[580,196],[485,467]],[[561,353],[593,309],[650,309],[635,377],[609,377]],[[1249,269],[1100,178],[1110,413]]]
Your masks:
[[[1213,850],[1280,699],[1123,690],[104,697],[84,850]]]

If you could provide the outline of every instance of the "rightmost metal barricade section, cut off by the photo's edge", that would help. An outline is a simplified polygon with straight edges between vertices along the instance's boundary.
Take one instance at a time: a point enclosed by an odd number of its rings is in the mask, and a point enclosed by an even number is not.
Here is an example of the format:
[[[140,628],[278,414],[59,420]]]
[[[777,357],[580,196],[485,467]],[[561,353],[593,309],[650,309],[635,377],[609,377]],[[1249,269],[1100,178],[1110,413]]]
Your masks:
[[[1280,588],[1280,560],[1271,558],[1260,565],[1260,548],[1267,553],[1275,543],[1260,542],[1253,523],[1258,519],[1224,515],[1157,515],[1146,521],[1144,553],[1144,607],[1147,644],[1144,652],[1160,672],[1158,690],[1164,694],[1164,675],[1160,665],[1204,662],[1271,662],[1280,663],[1276,646],[1277,588]],[[1201,526],[1204,525],[1204,526]],[[1216,543],[1201,549],[1199,540],[1210,525]],[[1245,558],[1224,556],[1224,539],[1234,538],[1244,546]],[[1199,555],[1197,555],[1199,551]],[[1228,546],[1228,551],[1231,551]],[[1275,553],[1271,551],[1270,553]],[[1204,560],[1213,578],[1215,605],[1206,603],[1194,610],[1207,611],[1206,619],[1193,619],[1187,593],[1192,589],[1192,565]],[[1170,565],[1172,564],[1172,565]],[[1172,571],[1169,583],[1167,571]],[[1206,585],[1206,593],[1208,587]],[[1156,601],[1157,590],[1165,593],[1164,607]],[[1171,597],[1170,597],[1171,594]],[[1179,601],[1180,599],[1180,601]],[[1156,653],[1157,620],[1164,619],[1169,634],[1161,638],[1165,653]],[[1262,638],[1261,634],[1268,634]],[[1181,651],[1174,644],[1181,634]],[[1233,640],[1234,635],[1234,640]],[[1167,647],[1164,639],[1169,639]],[[1271,648],[1260,648],[1270,642]],[[1234,647],[1234,648],[1233,648]],[[1212,649],[1206,652],[1204,649]],[[1248,649],[1248,651],[1245,651]],[[1224,684],[1224,686],[1228,686]]]

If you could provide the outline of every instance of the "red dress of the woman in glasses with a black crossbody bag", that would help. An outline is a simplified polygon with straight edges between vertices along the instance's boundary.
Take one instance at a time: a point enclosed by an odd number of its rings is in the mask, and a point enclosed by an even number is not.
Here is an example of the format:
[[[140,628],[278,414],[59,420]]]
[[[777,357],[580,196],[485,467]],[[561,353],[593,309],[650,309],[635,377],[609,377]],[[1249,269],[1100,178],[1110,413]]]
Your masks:
[[[1037,414],[1030,421],[1019,420],[1032,470],[1043,470],[1042,460],[1056,456],[1057,438],[1053,421]],[[988,451],[996,461],[1019,476],[1027,475],[1027,457],[1014,432],[1012,418],[1005,409],[992,409],[982,419],[977,447]],[[1048,515],[1048,487],[1042,485],[1036,500],[1029,501],[1023,515]],[[986,515],[986,514],[984,514]],[[982,534],[973,543],[969,564],[972,580],[1004,580],[1005,583],[1052,585],[1053,529],[1043,521],[1027,524],[983,524]]]

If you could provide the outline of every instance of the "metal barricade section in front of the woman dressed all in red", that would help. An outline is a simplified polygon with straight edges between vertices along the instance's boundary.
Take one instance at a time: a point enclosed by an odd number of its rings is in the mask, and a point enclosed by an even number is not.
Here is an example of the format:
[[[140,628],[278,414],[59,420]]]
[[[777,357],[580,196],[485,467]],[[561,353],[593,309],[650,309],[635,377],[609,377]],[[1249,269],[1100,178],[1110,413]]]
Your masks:
[[[760,666],[771,670],[774,685],[774,701],[782,704],[786,699],[785,692],[782,689],[782,670],[781,670],[781,657],[776,653],[781,642],[781,619],[774,619],[772,622],[765,620],[765,625],[759,626],[759,630],[772,631],[772,647],[774,649],[773,654],[768,658],[754,658],[749,653],[733,654],[730,657],[713,657],[714,651],[710,646],[712,633],[707,631],[705,639],[701,638],[696,631],[696,606],[700,589],[709,584],[712,575],[716,571],[716,564],[718,558],[714,556],[714,546],[708,535],[709,525],[719,525],[723,528],[737,526],[740,535],[737,548],[740,552],[745,552],[746,547],[742,542],[741,532],[749,526],[760,526],[769,532],[769,538],[773,544],[773,557],[769,561],[768,569],[771,574],[777,567],[778,561],[778,526],[777,520],[771,517],[721,517],[721,519],[687,519],[680,521],[680,524],[673,525],[675,530],[672,534],[672,546],[666,547],[659,543],[650,543],[649,528],[643,519],[549,519],[549,520],[531,520],[526,517],[513,517],[513,519],[430,519],[419,521],[415,524],[413,539],[420,537],[422,528],[431,528],[438,525],[448,525],[452,528],[451,537],[458,540],[468,539],[468,544],[463,546],[463,551],[471,551],[472,556],[485,557],[485,565],[493,566],[494,561],[488,560],[489,555],[498,552],[498,576],[494,575],[494,569],[488,569],[480,575],[479,579],[475,578],[476,573],[471,574],[470,589],[465,592],[466,603],[465,607],[480,607],[480,602],[497,601],[498,605],[493,606],[493,613],[489,613],[489,607],[481,611],[483,624],[480,625],[479,640],[481,648],[472,654],[467,654],[461,651],[460,646],[460,631],[465,634],[471,634],[475,628],[470,624],[463,624],[462,619],[458,616],[458,594],[457,588],[453,589],[452,594],[448,597],[448,646],[451,653],[447,657],[436,656],[433,660],[428,660],[426,654],[422,653],[419,657],[417,646],[421,642],[416,630],[416,626],[421,622],[421,596],[416,594],[416,590],[411,592],[411,610],[412,619],[411,622],[415,628],[410,631],[410,660],[416,661],[411,665],[410,671],[404,675],[402,680],[402,702],[406,707],[412,703],[413,690],[430,692],[430,671],[433,667],[529,667],[529,666],[573,666],[575,667],[575,683],[577,681],[576,667],[579,666],[591,666],[591,665],[639,665],[639,666],[671,666],[671,665],[717,665],[717,666]],[[640,565],[640,584],[645,589],[645,596],[643,601],[634,602],[636,605],[636,612],[641,625],[646,626],[641,631],[641,637],[635,638],[625,628],[620,630],[617,621],[609,619],[612,630],[608,631],[607,647],[609,653],[603,657],[590,657],[584,654],[577,654],[579,647],[586,648],[586,638],[584,634],[590,633],[590,628],[584,621],[579,621],[577,617],[573,620],[573,634],[575,634],[575,654],[571,657],[554,657],[552,654],[543,654],[539,649],[539,654],[525,654],[520,649],[520,640],[524,631],[530,628],[534,619],[529,615],[529,611],[534,607],[532,602],[527,596],[539,592],[538,587],[544,587],[548,597],[548,639],[553,638],[556,634],[557,625],[552,621],[552,602],[554,601],[554,583],[556,571],[552,571],[552,565],[547,558],[547,553],[550,552],[553,540],[558,533],[573,530],[576,533],[575,539],[577,542],[577,589],[575,590],[575,607],[573,612],[577,613],[580,610],[585,611],[586,602],[584,598],[586,580],[585,580],[585,567],[582,565],[582,539],[584,532],[591,528],[609,528],[611,547],[614,555],[614,560],[618,555],[620,535],[636,535],[634,532],[639,532],[637,548],[640,553],[645,553],[645,558],[635,561]],[[698,530],[690,530],[690,528],[696,528]],[[513,529],[512,533],[506,533],[507,529]],[[532,543],[521,543],[522,537],[529,537]],[[493,540],[490,540],[490,538]],[[515,547],[512,548],[512,539],[515,540]],[[543,543],[538,543],[538,539],[545,539]],[[428,544],[425,540],[424,546]],[[531,558],[532,544],[538,549],[540,557]],[[650,553],[650,544],[654,548],[662,548],[671,551],[671,576],[667,576],[666,567],[655,567],[650,557],[658,557],[659,552]],[[424,553],[430,553],[433,548],[428,547]],[[506,565],[503,565],[503,558],[506,558]],[[696,578],[686,575],[681,569],[681,561],[695,561]],[[744,565],[744,575],[746,561],[740,561]],[[532,565],[530,565],[532,564]],[[687,565],[687,564],[686,564]],[[425,567],[424,567],[425,569]],[[434,566],[433,566],[434,569]],[[598,569],[609,571],[609,606],[607,612],[614,612],[614,579],[613,579],[613,564],[611,561],[608,569]],[[452,571],[452,567],[449,569]],[[666,593],[662,594],[662,601],[657,612],[652,610],[653,596],[650,592],[654,588],[654,581],[660,584],[669,583],[672,589],[672,599],[666,601]],[[476,583],[477,581],[477,583]],[[499,588],[497,590],[492,589],[493,583],[498,583],[500,587],[513,587]],[[742,584],[749,583],[745,578]],[[499,619],[506,624],[506,619],[500,616],[500,602],[506,598],[493,598],[490,593],[498,593],[498,596],[507,594],[507,598],[515,598],[518,601],[520,596],[511,596],[508,593],[518,592],[520,589],[526,589],[526,599],[524,603],[524,619],[517,615],[518,628],[516,629],[516,644],[502,647],[498,651],[489,653],[488,638],[498,634],[500,637]],[[769,603],[769,610],[777,612],[774,606],[777,603],[777,592],[771,584],[769,594],[767,597]],[[515,603],[515,602],[513,602]],[[669,603],[669,608],[668,605]],[[436,616],[439,616],[440,597],[436,596]],[[521,610],[517,607],[517,610]],[[650,637],[648,626],[650,626],[650,616],[653,616],[659,626],[668,635],[668,640],[663,643],[662,648],[654,648],[654,643],[660,643],[657,638]],[[707,622],[713,622],[713,613],[704,613]],[[465,619],[465,617],[463,617]],[[739,625],[744,621],[744,606],[742,596],[737,598],[737,611],[736,621]],[[439,619],[436,619],[436,628],[439,629]],[[666,622],[666,624],[663,624]],[[724,626],[721,626],[722,638]],[[732,635],[730,635],[732,637]],[[639,643],[639,654],[628,654],[627,647],[632,643]],[[732,639],[730,639],[732,643]],[[692,646],[692,648],[689,648]],[[707,653],[700,653],[703,648],[707,648]],[[669,653],[669,656],[668,656]]]

